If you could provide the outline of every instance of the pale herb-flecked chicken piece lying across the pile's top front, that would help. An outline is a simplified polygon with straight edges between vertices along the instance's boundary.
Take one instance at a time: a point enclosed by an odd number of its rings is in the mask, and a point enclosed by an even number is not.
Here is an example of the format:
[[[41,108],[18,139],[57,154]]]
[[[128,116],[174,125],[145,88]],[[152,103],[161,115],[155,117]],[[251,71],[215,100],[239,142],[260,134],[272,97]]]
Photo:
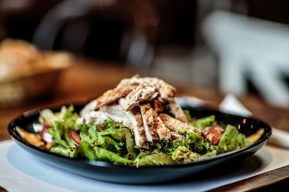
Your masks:
[[[158,95],[155,88],[148,84],[138,85],[136,89],[131,91],[126,97],[121,107],[125,111],[129,111],[143,101],[150,101]]]

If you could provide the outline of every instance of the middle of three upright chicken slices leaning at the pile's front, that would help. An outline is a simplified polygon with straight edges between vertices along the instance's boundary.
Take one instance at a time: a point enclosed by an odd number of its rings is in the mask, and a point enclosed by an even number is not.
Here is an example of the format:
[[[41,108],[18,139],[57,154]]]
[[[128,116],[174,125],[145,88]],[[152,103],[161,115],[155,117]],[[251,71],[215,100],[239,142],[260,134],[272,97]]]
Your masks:
[[[159,139],[157,131],[153,123],[153,109],[148,103],[140,104],[140,112],[144,123],[145,134],[149,142],[154,142]]]

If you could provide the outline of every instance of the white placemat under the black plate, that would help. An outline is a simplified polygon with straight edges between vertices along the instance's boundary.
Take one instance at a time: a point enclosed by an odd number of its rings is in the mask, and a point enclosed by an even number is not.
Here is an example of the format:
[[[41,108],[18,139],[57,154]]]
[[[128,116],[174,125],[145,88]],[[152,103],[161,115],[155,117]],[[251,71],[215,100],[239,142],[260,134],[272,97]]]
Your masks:
[[[208,172],[197,179],[188,177],[184,181],[172,181],[168,184],[123,185],[84,178],[49,166],[24,151],[12,140],[0,142],[0,154],[0,186],[10,192],[206,191],[289,164],[289,150],[265,145],[236,166],[221,168],[219,173]]]

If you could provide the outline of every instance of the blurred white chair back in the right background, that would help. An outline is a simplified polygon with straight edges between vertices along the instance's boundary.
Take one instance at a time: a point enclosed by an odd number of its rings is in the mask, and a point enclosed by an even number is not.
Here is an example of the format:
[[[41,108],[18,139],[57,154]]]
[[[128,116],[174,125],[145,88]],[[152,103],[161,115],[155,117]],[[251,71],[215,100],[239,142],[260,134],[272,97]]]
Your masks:
[[[289,108],[289,26],[216,11],[203,22],[203,36],[219,58],[219,85],[227,93],[247,91],[249,79],[275,106]]]

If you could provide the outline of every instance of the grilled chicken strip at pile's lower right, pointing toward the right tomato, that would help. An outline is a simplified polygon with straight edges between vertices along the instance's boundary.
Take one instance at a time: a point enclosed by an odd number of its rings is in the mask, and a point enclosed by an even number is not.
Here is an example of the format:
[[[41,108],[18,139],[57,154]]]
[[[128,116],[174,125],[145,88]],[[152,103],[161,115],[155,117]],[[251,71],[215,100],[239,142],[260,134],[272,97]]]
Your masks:
[[[164,122],[165,126],[169,128],[170,130],[173,130],[177,132],[179,128],[187,128],[187,132],[193,132],[193,133],[199,133],[201,135],[204,135],[201,130],[194,126],[190,126],[188,123],[183,123],[179,121],[178,119],[175,119],[167,114],[161,113],[159,114],[159,117]]]

